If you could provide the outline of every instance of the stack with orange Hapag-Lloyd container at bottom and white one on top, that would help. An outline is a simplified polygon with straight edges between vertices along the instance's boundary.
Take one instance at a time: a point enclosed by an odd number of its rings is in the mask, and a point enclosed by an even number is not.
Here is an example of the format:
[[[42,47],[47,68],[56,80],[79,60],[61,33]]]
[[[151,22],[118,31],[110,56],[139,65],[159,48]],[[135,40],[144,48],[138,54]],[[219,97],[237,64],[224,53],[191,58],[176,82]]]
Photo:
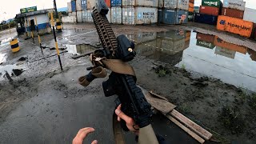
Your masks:
[[[242,0],[224,0],[222,12],[224,15],[218,16],[217,29],[250,38],[254,23],[242,20],[245,6],[246,2]]]

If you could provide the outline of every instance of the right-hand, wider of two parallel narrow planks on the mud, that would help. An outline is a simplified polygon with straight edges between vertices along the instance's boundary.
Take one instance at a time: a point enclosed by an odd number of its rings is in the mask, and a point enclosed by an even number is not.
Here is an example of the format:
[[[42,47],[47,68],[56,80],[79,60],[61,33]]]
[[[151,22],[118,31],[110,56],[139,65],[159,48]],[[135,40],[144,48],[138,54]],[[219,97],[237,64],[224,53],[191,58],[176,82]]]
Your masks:
[[[170,115],[174,118],[178,119],[180,122],[182,122],[184,125],[188,126],[191,130],[196,132],[198,135],[200,135],[202,138],[205,138],[206,140],[209,140],[213,134],[210,134],[209,131],[203,129],[201,126],[196,124],[195,122],[191,121],[189,118],[186,118],[184,115],[179,113],[177,110],[172,110],[170,112]]]

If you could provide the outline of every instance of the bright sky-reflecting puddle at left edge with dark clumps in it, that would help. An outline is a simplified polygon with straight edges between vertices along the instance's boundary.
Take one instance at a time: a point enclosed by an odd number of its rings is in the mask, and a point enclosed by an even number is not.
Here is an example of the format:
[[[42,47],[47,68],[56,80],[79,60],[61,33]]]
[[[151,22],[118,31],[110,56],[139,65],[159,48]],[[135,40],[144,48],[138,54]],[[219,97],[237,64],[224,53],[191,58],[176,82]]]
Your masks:
[[[26,69],[22,63],[17,63],[14,65],[0,66],[0,80],[10,77],[17,77],[21,75]]]

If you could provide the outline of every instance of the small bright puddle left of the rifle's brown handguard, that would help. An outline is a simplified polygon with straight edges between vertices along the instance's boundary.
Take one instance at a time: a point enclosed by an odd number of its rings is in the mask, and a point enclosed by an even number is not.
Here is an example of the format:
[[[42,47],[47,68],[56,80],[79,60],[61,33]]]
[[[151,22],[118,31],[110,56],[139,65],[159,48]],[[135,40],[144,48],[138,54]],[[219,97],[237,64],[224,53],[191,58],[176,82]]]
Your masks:
[[[66,50],[68,51],[68,53],[71,54],[86,54],[90,51],[95,50],[94,47],[90,46],[90,45],[65,45],[66,46]]]

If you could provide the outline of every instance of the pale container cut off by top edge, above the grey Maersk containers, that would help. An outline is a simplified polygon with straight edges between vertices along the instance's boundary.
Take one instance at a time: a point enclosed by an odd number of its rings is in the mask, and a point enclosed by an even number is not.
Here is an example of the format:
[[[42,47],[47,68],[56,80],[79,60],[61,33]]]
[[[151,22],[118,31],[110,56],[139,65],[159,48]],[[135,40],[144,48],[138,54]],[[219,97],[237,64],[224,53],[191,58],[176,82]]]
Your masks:
[[[122,0],[122,7],[124,6],[151,6],[158,7],[158,0]]]

